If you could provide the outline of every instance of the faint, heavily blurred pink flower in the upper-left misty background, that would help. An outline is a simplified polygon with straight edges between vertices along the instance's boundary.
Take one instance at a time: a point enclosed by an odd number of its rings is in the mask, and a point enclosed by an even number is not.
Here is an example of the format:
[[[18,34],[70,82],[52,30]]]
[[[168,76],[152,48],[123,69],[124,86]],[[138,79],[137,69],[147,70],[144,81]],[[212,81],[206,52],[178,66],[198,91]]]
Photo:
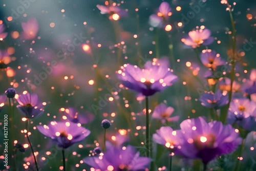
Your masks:
[[[36,37],[39,25],[35,18],[29,18],[27,23],[22,23],[22,38],[23,39],[33,39]]]

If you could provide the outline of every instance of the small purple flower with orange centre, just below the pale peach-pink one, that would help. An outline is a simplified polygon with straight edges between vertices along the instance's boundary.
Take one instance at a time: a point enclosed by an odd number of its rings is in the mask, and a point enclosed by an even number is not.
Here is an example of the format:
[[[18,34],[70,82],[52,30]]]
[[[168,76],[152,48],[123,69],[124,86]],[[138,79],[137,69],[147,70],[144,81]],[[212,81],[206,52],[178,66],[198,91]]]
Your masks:
[[[215,70],[217,66],[225,65],[225,60],[220,57],[220,54],[216,54],[216,51],[210,49],[203,50],[200,59],[205,67],[212,70]]]

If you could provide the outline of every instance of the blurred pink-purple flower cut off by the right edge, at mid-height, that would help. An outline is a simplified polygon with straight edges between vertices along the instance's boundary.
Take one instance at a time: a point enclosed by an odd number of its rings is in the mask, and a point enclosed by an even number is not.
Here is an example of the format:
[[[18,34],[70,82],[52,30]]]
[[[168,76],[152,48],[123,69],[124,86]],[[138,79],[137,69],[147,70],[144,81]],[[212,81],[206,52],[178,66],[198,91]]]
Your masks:
[[[244,82],[242,90],[248,95],[256,93],[256,69],[251,70],[250,79]]]

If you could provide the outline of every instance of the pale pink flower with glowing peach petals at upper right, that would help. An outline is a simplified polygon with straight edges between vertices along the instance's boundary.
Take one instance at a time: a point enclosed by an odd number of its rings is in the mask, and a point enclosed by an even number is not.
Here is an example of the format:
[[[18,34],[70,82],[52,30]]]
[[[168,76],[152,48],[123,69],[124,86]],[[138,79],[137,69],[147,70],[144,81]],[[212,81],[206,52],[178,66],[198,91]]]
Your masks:
[[[188,37],[182,38],[181,41],[187,46],[197,48],[200,45],[210,45],[214,41],[214,37],[210,35],[211,32],[209,29],[193,30],[188,32]]]

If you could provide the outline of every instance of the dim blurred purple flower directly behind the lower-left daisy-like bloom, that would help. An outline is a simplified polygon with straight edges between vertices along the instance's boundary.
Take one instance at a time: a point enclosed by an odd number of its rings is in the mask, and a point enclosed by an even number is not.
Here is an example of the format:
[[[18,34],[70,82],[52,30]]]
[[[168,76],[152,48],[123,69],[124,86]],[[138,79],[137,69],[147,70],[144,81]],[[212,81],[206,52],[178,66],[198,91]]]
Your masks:
[[[64,112],[67,119],[74,123],[86,124],[93,121],[94,119],[93,114],[89,112],[84,114],[79,114],[74,108],[68,108]]]

